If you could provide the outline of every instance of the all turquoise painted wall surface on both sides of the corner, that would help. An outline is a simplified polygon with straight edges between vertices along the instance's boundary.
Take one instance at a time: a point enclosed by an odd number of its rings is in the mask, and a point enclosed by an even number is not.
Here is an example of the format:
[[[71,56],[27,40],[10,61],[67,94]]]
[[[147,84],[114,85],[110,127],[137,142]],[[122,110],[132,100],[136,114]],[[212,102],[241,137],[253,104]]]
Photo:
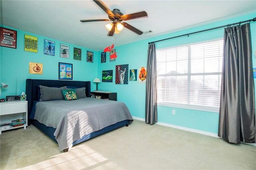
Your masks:
[[[32,79],[58,79],[58,62],[72,63],[73,64],[73,80],[78,81],[93,81],[95,77],[102,78],[103,70],[113,70],[113,82],[102,82],[98,84],[98,90],[117,92],[118,101],[126,103],[133,117],[145,119],[145,91],[146,84],[138,83],[138,81],[129,81],[128,85],[115,84],[115,67],[116,65],[129,64],[130,69],[138,69],[138,67],[146,67],[148,42],[179,36],[199,30],[205,30],[217,26],[226,24],[232,24],[244,20],[249,20],[256,17],[256,13],[236,17],[222,22],[214,22],[204,26],[194,27],[191,29],[181,30],[164,36],[158,36],[150,38],[148,40],[142,40],[127,45],[118,46],[115,44],[115,49],[118,57],[116,61],[109,61],[109,53],[107,52],[106,63],[100,62],[100,53],[103,51],[93,51],[86,49],[85,47],[79,47],[82,49],[82,61],[73,59],[73,47],[74,45],[59,42],[51,38],[42,37],[39,35],[30,34],[22,30],[18,30],[18,45],[17,49],[0,47],[0,80],[1,82],[9,85],[8,89],[4,89],[1,94],[1,98],[6,95],[16,95],[16,79],[17,79],[17,94],[25,91],[25,80]],[[4,26],[5,27],[5,26]],[[6,27],[8,28],[8,27]],[[17,30],[15,28],[11,28]],[[29,34],[38,37],[38,53],[32,53],[24,51],[24,34]],[[251,34],[252,34],[252,50],[256,51],[256,22],[251,22]],[[175,38],[163,42],[156,43],[156,48],[170,47],[176,45],[182,45],[186,43],[201,42],[206,40],[212,40],[222,38],[224,35],[224,28],[217,30],[211,30],[199,34],[184,36],[181,38]],[[49,56],[43,54],[43,42],[44,39],[55,41],[56,50],[55,56]],[[65,59],[60,57],[60,43],[70,45],[70,58]],[[111,44],[110,44],[111,45]],[[94,52],[94,62],[86,62],[86,50]],[[256,67],[256,59],[253,59],[253,67]],[[36,62],[44,64],[43,75],[33,75],[28,73],[28,63]],[[96,89],[95,83],[91,83],[92,90]],[[176,114],[172,115],[172,109],[176,110]],[[180,109],[172,107],[158,106],[158,122],[176,125],[180,127],[192,128],[196,130],[202,130],[211,133],[218,133],[218,113],[196,111],[189,109]]]

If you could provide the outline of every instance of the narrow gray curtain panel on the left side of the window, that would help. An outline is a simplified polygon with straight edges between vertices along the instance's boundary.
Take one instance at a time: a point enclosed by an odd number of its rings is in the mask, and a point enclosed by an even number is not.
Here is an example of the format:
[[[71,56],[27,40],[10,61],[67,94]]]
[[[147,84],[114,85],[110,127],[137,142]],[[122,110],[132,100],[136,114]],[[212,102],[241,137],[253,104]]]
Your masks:
[[[156,93],[156,45],[148,45],[148,62],[146,78],[146,123],[157,123],[157,93]]]

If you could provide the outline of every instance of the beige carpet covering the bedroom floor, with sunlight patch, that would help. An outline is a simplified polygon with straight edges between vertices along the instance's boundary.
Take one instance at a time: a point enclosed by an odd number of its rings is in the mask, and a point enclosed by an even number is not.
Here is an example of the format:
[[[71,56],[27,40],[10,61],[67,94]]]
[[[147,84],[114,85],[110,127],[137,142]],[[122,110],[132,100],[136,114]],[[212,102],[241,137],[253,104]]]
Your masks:
[[[256,147],[135,120],[69,152],[33,125],[0,135],[1,170],[256,170]]]

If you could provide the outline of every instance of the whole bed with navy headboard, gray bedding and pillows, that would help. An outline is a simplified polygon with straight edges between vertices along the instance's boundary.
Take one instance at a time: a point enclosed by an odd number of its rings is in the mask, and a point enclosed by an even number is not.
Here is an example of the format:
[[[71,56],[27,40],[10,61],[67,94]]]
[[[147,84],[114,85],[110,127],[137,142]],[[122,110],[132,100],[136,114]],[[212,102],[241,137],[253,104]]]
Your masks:
[[[71,92],[77,100],[65,95]],[[133,121],[124,103],[91,98],[90,81],[26,79],[26,95],[28,125],[39,128],[64,152]]]

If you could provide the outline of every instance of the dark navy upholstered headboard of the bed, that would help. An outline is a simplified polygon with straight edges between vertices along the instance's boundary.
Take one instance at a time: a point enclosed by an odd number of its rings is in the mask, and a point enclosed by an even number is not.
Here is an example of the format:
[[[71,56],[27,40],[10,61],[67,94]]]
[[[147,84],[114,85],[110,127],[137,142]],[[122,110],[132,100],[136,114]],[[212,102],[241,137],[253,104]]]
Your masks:
[[[85,93],[87,97],[91,97],[91,82],[90,81],[69,81],[69,80],[41,80],[41,79],[26,79],[26,95],[28,101],[28,125],[30,125],[30,113],[33,105],[33,101],[37,99],[38,86],[48,87],[62,87],[62,86],[74,86],[85,87]]]

